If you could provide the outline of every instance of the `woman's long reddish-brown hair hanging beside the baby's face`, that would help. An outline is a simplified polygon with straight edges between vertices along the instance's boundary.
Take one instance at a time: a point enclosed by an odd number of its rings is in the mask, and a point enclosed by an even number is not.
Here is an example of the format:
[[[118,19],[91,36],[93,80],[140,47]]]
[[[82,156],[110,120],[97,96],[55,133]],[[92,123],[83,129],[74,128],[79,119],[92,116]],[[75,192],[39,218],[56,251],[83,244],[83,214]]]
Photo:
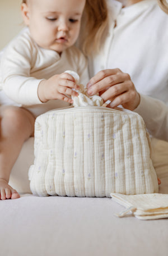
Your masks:
[[[165,1],[165,0],[163,0]],[[27,0],[22,0],[27,3]],[[79,42],[86,55],[99,51],[108,26],[108,7],[106,0],[86,0],[81,22]]]

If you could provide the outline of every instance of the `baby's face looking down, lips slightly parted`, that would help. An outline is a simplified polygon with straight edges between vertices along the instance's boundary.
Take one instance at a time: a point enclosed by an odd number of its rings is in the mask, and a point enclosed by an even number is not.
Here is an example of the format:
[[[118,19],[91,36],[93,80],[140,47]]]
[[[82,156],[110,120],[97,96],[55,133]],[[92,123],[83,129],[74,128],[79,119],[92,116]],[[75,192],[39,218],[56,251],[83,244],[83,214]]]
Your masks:
[[[86,0],[28,0],[25,23],[45,49],[61,53],[77,40]],[[24,10],[22,14],[24,16]]]

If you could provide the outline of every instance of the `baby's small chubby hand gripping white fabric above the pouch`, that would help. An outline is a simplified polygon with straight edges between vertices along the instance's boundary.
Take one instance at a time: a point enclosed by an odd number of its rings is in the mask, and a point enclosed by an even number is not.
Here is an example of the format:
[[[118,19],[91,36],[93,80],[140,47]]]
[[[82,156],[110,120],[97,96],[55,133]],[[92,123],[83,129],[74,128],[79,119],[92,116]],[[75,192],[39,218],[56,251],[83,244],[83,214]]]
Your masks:
[[[60,99],[73,103],[70,96],[78,96],[78,93],[72,89],[78,90],[80,86],[76,84],[72,75],[62,73],[54,75],[48,80],[41,81],[38,87],[38,96],[41,102],[47,102],[50,99]]]

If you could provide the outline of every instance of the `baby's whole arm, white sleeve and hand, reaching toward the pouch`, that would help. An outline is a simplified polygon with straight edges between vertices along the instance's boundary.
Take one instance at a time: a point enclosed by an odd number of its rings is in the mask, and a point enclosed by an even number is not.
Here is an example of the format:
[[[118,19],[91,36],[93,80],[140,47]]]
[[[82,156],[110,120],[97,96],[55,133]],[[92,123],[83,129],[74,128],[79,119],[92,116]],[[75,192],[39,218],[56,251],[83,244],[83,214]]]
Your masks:
[[[72,103],[72,99],[67,95],[78,95],[72,91],[72,88],[78,89],[78,87],[71,75],[54,75],[48,80],[43,79],[45,77],[40,77],[41,79],[31,77],[37,52],[31,39],[25,40],[24,36],[24,34],[20,35],[13,40],[2,56],[4,92],[13,101],[27,106],[47,102],[50,99],[62,99]]]

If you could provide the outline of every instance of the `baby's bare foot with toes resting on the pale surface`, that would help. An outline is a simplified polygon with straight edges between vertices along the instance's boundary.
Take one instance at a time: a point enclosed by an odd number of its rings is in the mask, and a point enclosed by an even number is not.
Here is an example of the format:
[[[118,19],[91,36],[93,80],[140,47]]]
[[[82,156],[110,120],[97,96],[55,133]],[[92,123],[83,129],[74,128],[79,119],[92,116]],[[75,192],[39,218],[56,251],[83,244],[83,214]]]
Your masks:
[[[20,198],[20,194],[15,189],[12,189],[6,180],[0,179],[0,199],[17,199]]]

